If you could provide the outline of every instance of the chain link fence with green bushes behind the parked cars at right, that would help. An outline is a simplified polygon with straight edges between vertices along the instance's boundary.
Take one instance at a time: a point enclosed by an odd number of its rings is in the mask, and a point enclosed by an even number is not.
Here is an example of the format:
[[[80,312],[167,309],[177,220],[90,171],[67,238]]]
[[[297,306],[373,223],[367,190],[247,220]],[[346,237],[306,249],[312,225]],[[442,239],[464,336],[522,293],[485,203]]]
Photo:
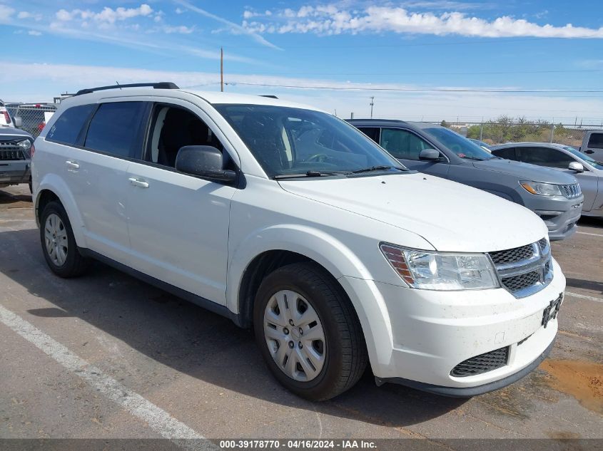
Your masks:
[[[589,125],[583,128],[576,124],[554,124],[546,120],[528,122],[522,118],[502,116],[497,120],[480,123],[447,122],[440,125],[455,130],[467,138],[480,140],[489,145],[505,142],[557,142],[558,144],[582,145],[586,130],[603,129],[600,125]]]

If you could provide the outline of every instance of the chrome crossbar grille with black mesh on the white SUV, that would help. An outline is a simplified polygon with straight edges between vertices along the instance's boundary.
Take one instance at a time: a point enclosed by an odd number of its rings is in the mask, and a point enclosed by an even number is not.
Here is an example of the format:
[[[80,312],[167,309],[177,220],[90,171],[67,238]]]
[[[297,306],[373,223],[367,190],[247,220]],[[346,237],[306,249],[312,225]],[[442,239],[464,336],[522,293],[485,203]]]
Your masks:
[[[553,278],[551,247],[546,238],[489,255],[500,284],[516,298],[542,290]]]

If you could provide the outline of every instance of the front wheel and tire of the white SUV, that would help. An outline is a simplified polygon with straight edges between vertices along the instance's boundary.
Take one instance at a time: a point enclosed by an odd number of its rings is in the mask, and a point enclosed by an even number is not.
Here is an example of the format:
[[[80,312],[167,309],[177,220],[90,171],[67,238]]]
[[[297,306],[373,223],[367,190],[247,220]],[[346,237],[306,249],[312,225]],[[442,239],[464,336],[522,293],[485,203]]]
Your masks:
[[[318,264],[289,264],[269,274],[255,296],[253,324],[268,368],[302,398],[334,398],[366,368],[358,316],[338,282]]]

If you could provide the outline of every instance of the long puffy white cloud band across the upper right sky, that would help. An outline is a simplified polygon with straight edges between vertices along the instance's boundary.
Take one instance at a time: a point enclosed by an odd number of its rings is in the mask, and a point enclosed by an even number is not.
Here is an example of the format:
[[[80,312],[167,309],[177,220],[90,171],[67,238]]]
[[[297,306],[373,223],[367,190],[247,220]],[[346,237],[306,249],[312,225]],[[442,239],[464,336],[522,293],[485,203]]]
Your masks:
[[[425,2],[414,2],[424,4]],[[442,3],[442,2],[437,2]],[[454,2],[447,2],[454,3]],[[271,19],[243,21],[243,27],[253,33],[315,33],[333,35],[341,33],[409,33],[450,34],[472,37],[539,38],[603,38],[603,27],[585,28],[539,25],[525,19],[500,16],[492,21],[452,11],[442,14],[410,12],[393,6],[368,6],[365,9],[343,9],[337,4],[302,6],[300,9],[273,11]]]

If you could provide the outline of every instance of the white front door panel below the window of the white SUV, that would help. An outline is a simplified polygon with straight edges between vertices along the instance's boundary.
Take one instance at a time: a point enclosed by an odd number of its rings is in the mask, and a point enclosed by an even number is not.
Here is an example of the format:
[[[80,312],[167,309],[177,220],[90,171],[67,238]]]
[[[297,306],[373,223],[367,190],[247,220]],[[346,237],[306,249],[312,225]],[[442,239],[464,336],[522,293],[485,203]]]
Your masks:
[[[124,180],[131,184],[133,268],[226,304],[228,219],[235,188],[142,162],[132,162]]]

